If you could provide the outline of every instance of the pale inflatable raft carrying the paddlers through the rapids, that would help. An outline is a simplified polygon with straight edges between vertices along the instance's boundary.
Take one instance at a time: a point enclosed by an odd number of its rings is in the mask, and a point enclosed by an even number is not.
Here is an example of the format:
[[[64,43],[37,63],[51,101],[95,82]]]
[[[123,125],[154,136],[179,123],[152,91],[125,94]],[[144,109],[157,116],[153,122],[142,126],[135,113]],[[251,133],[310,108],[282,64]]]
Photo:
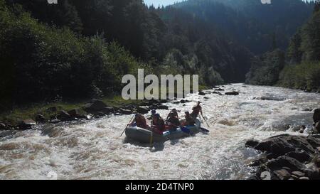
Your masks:
[[[149,144],[151,139],[152,142],[164,142],[169,139],[181,139],[186,136],[197,134],[201,131],[201,122],[199,119],[196,119],[195,125],[185,127],[190,130],[190,134],[183,132],[180,128],[177,128],[175,131],[165,131],[164,134],[156,134],[148,129],[143,129],[137,126],[129,126],[126,129],[125,134],[128,139],[138,141],[140,143]]]

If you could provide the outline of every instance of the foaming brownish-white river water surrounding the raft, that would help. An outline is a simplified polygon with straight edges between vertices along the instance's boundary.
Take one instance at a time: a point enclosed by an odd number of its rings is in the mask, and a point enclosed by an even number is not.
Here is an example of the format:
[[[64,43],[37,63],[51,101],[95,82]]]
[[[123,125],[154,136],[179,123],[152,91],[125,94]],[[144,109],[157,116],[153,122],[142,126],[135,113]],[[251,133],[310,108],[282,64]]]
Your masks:
[[[119,137],[132,115],[37,126],[1,137],[0,179],[245,179],[252,171],[247,164],[259,154],[245,148],[246,140],[298,134],[302,125],[308,131],[313,122],[308,109],[320,107],[319,94],[299,90],[242,84],[221,88],[240,95],[200,97],[210,127],[203,126],[210,134],[151,149]],[[182,115],[194,104],[167,105]]]

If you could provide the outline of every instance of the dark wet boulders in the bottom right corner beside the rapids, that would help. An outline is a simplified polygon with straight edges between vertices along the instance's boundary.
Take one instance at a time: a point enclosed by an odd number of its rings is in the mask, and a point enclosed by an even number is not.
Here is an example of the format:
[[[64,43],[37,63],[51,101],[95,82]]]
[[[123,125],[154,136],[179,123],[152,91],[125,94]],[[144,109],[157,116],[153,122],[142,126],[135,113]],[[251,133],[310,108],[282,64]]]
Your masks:
[[[309,136],[282,134],[260,142],[247,141],[246,147],[262,153],[249,165],[255,167],[250,179],[320,180],[320,109],[313,118],[314,134]]]

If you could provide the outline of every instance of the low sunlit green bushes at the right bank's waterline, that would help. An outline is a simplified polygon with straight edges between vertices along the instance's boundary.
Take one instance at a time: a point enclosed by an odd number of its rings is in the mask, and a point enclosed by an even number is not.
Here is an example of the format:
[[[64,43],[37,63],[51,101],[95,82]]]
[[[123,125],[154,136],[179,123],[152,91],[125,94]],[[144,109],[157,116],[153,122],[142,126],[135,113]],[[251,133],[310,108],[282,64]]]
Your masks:
[[[320,90],[320,62],[287,65],[281,72],[279,85],[295,89]]]

